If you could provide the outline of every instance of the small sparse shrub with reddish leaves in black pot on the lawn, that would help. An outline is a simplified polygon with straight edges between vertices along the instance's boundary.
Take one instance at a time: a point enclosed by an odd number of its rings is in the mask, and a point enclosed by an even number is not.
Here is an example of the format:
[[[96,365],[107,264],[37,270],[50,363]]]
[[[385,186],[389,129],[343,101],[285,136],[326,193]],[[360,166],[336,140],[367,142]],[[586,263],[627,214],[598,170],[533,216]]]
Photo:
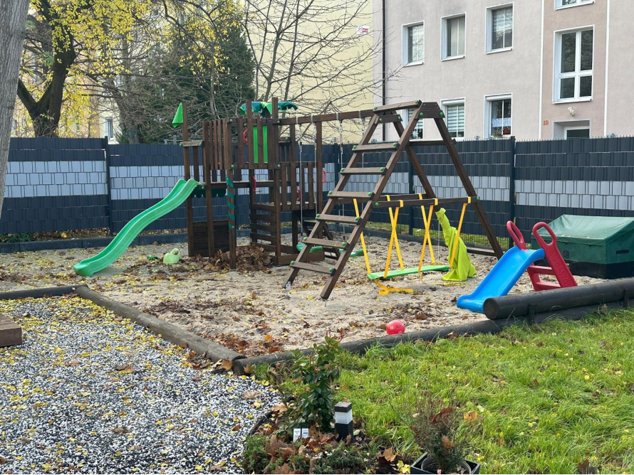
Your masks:
[[[415,413],[407,421],[424,454],[415,461],[411,474],[479,474],[480,466],[464,459],[467,444],[459,433],[462,413],[430,393],[423,393]]]

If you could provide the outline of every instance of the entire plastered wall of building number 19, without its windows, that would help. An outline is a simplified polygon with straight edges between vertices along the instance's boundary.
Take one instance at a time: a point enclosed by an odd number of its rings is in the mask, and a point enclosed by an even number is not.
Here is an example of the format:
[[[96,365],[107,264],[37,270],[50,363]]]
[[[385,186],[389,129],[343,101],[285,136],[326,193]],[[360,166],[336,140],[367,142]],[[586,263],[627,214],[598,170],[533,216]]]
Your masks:
[[[464,97],[465,137],[473,138],[485,134],[484,96],[511,93],[512,134],[519,139],[561,137],[564,126],[585,121],[590,123],[591,136],[634,135],[634,48],[630,26],[634,1],[595,0],[564,9],[556,9],[556,0],[385,2],[388,74],[399,70],[398,77],[388,81],[388,103],[413,99],[441,102]],[[506,3],[514,6],[513,49],[487,54],[486,9]],[[374,0],[377,40],[382,31],[381,6],[382,0]],[[467,18],[465,56],[442,61],[441,18],[463,12]],[[425,22],[425,62],[403,67],[402,26],[419,21]],[[555,33],[583,26],[594,27],[593,96],[585,101],[554,102]],[[374,75],[381,77],[380,58],[375,62]],[[380,96],[375,98],[375,104],[380,101]],[[569,107],[573,107],[574,115]],[[425,127],[425,139],[437,138],[431,122],[426,122]],[[380,134],[376,137],[380,138]],[[394,137],[390,130],[388,138]]]

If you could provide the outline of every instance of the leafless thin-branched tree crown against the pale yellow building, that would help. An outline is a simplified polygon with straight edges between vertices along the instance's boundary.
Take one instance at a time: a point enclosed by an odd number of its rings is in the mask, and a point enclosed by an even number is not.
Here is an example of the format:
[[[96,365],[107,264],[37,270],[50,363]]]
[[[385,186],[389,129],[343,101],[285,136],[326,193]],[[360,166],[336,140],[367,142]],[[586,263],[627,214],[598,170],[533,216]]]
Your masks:
[[[256,61],[256,96],[298,102],[303,110],[356,107],[373,79],[373,43],[364,25],[370,0],[245,0],[244,29]]]

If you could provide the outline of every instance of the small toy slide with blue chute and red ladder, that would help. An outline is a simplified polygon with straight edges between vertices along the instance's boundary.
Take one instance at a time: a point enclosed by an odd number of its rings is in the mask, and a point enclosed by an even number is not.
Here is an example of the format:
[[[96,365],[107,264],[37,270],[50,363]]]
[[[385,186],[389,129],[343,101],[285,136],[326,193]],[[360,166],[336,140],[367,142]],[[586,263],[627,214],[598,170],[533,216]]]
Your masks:
[[[534,225],[533,235],[540,247],[532,250],[526,247],[524,237],[512,221],[506,223],[506,229],[515,242],[515,247],[504,253],[502,259],[497,262],[487,277],[484,277],[472,294],[458,298],[459,308],[482,313],[484,301],[508,294],[524,272],[528,272],[536,292],[576,287],[577,282],[557,249],[557,237],[549,225],[546,223]],[[550,243],[544,241],[544,237],[539,233],[541,229],[551,235]],[[534,264],[541,259],[546,259],[550,267]],[[540,275],[553,275],[557,282],[542,282]]]

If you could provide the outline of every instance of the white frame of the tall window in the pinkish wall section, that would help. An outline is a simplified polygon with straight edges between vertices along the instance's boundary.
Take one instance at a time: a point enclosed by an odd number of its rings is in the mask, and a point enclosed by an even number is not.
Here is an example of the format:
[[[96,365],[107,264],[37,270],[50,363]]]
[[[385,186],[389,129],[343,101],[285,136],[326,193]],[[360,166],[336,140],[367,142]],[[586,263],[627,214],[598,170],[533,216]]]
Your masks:
[[[564,78],[575,78],[575,97],[561,99],[561,37],[566,33],[578,33],[581,31],[593,31],[592,36],[592,69],[581,71],[581,44],[576,48],[575,70],[573,73],[563,73]],[[568,102],[590,102],[594,97],[594,55],[596,45],[596,28],[594,25],[578,26],[576,28],[566,28],[554,32],[553,39],[553,104],[566,104]],[[592,76],[592,91],[590,97],[578,97],[581,87],[581,76]],[[578,79],[578,80],[577,80]]]

